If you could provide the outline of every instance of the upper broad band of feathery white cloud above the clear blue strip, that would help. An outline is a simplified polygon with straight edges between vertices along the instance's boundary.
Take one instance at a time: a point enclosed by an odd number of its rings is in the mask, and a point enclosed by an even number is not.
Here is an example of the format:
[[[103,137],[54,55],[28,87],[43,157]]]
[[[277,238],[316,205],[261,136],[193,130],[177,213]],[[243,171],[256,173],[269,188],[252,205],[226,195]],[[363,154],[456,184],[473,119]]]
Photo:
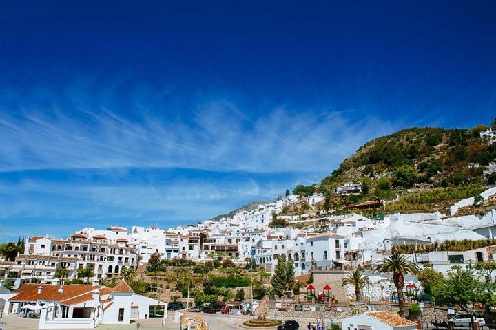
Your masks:
[[[105,97],[63,93],[38,91],[3,105],[1,170],[329,172],[363,142],[397,129],[372,115],[291,104],[247,109],[225,98],[169,102],[143,91],[123,104],[108,90]]]

